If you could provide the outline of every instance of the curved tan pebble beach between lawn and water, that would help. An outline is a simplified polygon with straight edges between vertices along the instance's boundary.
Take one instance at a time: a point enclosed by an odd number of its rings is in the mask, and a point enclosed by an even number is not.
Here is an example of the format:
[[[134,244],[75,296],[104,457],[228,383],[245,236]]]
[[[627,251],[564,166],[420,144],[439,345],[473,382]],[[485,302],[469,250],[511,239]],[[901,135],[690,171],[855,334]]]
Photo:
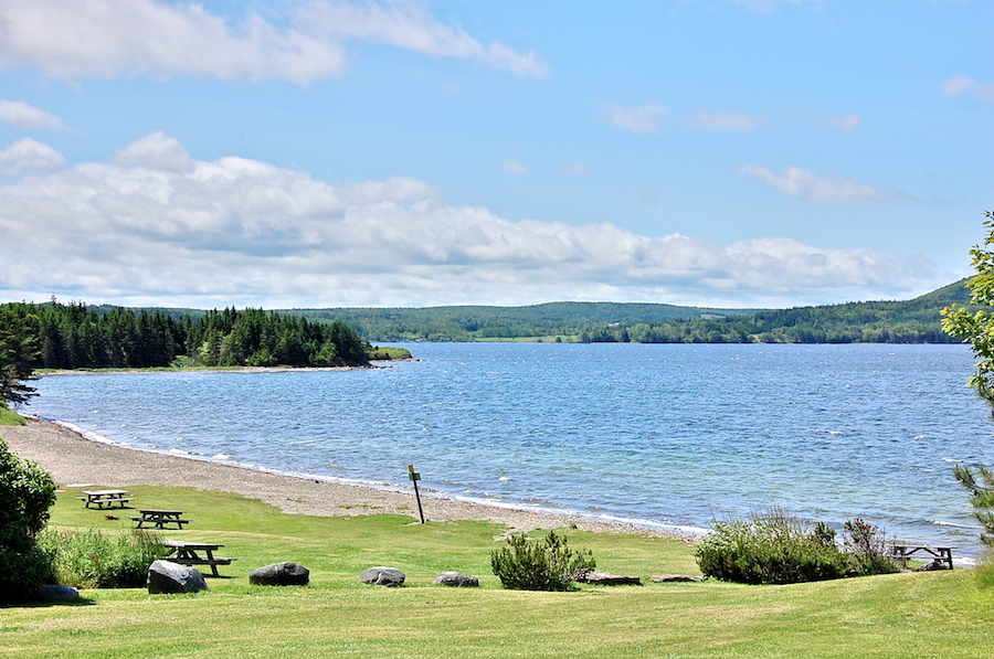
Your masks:
[[[0,437],[22,460],[36,463],[62,487],[95,483],[105,487],[135,485],[192,487],[260,499],[287,514],[355,517],[393,513],[416,519],[411,493],[377,487],[335,482],[261,468],[239,467],[86,438],[65,425],[28,417],[24,426],[4,426]],[[600,533],[633,533],[654,538],[696,541],[690,530],[662,530],[620,521],[599,521],[577,513],[530,511],[487,506],[457,499],[422,496],[430,521],[477,520],[508,527],[508,532],[572,527]]]

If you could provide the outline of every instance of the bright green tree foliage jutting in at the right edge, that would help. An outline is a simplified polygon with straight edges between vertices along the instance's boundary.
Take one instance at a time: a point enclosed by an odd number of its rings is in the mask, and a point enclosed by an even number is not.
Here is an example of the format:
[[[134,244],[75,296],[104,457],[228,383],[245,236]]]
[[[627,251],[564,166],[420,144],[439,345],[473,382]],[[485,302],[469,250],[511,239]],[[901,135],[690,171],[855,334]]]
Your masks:
[[[967,381],[988,404],[994,405],[994,315],[984,307],[994,306],[994,214],[984,213],[987,237],[983,245],[974,245],[970,251],[976,275],[966,284],[972,293],[972,301],[982,308],[971,311],[955,304],[942,309],[942,329],[973,347],[977,358],[976,371]],[[975,470],[969,465],[956,465],[953,472],[972,495],[973,514],[984,527],[981,541],[994,546],[994,474],[985,465]]]

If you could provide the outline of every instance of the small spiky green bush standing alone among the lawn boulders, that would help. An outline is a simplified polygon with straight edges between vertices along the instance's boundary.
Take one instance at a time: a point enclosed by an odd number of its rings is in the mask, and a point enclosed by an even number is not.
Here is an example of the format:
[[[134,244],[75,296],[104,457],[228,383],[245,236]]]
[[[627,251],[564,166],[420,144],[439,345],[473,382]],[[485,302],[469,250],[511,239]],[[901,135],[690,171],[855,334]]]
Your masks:
[[[563,535],[549,531],[542,540],[512,533],[507,546],[490,554],[490,567],[505,588],[568,591],[596,566],[586,550],[573,551]]]

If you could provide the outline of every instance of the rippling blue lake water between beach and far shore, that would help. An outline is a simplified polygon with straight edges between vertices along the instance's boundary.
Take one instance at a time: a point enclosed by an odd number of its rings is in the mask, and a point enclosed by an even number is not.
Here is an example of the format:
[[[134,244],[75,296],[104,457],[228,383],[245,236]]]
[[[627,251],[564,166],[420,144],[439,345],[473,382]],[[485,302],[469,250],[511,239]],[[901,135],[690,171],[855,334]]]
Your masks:
[[[706,528],[772,506],[977,549],[952,476],[994,463],[964,346],[419,343],[348,372],[41,380],[28,412],[134,447]],[[108,475],[108,479],[112,475]]]

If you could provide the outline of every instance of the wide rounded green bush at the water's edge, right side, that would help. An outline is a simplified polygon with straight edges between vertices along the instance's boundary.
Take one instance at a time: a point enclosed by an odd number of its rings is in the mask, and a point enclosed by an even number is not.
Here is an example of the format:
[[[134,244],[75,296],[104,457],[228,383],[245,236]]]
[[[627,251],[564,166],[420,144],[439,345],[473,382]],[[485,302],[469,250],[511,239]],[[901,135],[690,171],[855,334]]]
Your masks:
[[[697,548],[700,571],[744,584],[792,584],[845,576],[846,554],[824,524],[807,524],[781,511],[751,522],[716,522]]]

